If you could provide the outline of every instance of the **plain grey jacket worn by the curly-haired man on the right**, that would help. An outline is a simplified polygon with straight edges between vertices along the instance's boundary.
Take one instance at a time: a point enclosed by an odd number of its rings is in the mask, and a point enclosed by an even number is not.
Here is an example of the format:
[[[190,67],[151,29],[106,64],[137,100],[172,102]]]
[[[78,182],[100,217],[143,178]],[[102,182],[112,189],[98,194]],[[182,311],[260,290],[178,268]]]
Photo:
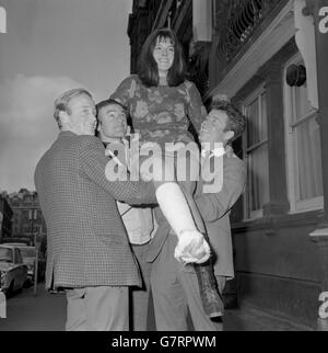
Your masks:
[[[214,260],[214,273],[215,275],[233,277],[233,250],[229,215],[231,207],[244,190],[246,167],[241,159],[235,157],[212,157],[212,159],[214,158],[223,158],[223,186],[218,193],[203,193],[203,182],[199,181],[195,201],[204,220],[210,239]],[[160,209],[156,209],[155,215],[159,228],[149,244],[149,262],[153,262],[156,259],[168,234],[172,231]]]

